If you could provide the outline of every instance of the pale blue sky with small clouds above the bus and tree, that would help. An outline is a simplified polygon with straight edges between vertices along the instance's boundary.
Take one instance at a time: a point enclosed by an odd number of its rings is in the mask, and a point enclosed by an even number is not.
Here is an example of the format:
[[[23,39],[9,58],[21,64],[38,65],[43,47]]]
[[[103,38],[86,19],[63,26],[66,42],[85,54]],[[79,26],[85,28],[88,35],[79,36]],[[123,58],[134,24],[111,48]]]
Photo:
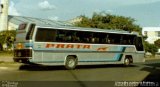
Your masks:
[[[66,21],[94,12],[131,17],[142,27],[160,27],[160,0],[9,0],[9,15]]]

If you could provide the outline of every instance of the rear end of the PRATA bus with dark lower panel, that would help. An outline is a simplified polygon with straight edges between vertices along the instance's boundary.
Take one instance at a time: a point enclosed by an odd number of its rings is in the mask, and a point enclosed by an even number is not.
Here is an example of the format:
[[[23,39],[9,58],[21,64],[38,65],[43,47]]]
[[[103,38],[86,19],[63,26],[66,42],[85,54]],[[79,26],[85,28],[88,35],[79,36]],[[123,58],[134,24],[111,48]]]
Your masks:
[[[32,35],[35,24],[22,23],[19,25],[14,43],[14,61],[28,63],[32,58]]]

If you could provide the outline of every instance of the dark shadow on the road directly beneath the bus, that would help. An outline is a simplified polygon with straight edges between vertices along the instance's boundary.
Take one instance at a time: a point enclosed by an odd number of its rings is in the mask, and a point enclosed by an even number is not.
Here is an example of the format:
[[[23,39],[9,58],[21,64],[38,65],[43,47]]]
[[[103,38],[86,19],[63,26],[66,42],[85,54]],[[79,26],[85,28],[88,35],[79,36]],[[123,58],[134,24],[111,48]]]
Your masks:
[[[135,65],[130,65],[128,67],[137,67]],[[107,64],[107,65],[85,65],[77,66],[77,69],[97,69],[97,68],[127,68],[122,64]],[[64,66],[45,66],[38,64],[24,64],[19,67],[19,70],[27,71],[54,71],[54,70],[66,70]]]

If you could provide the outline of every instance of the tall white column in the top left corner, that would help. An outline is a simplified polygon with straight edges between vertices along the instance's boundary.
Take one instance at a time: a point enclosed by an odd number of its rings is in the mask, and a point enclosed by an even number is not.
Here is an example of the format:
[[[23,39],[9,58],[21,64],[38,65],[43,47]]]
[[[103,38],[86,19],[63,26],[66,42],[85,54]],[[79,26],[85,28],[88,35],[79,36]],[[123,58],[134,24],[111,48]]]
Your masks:
[[[8,6],[9,0],[1,0],[0,2],[0,31],[8,30]]]

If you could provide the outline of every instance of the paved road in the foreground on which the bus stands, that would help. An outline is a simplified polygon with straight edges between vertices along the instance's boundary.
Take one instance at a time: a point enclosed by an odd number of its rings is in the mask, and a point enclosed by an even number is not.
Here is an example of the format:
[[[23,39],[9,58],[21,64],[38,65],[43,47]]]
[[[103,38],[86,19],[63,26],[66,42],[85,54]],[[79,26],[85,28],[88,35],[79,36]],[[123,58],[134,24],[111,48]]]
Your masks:
[[[0,63],[0,81],[24,81],[26,83],[34,81],[38,84],[39,82],[50,84],[52,82],[52,85],[53,83],[67,85],[70,83],[72,87],[97,87],[97,84],[103,84],[101,86],[105,87],[108,84],[114,85],[118,81],[160,82],[160,59],[148,60],[130,67],[96,65],[78,66],[75,70],[66,70],[63,66]]]

